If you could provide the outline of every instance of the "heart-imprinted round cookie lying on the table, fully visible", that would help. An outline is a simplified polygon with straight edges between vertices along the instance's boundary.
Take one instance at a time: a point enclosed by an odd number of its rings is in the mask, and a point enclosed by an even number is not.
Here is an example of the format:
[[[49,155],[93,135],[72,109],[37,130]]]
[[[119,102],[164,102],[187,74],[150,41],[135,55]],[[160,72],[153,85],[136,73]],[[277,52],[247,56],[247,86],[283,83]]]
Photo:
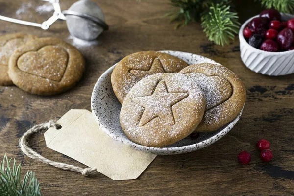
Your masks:
[[[8,74],[24,91],[55,95],[72,88],[84,69],[84,58],[72,45],[57,38],[40,38],[15,50]]]

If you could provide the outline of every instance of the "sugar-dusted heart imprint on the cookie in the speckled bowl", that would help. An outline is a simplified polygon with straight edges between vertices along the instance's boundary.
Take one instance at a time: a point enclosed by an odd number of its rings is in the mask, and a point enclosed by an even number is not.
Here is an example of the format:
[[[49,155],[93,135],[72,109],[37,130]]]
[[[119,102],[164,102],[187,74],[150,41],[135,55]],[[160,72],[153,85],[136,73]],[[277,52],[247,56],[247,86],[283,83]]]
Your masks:
[[[214,108],[228,100],[233,89],[231,84],[220,76],[207,76],[203,73],[188,73],[201,87],[206,99],[206,110]]]

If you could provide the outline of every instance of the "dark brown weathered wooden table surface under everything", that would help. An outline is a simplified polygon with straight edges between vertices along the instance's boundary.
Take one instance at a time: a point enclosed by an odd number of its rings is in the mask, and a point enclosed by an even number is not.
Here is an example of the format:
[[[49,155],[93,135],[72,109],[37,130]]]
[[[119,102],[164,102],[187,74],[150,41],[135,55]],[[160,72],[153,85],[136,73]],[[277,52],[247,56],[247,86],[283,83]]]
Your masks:
[[[67,9],[75,0],[61,0]],[[0,87],[0,159],[6,153],[23,172],[33,170],[45,196],[88,195],[294,195],[294,74],[270,77],[253,73],[241,61],[239,40],[228,46],[209,42],[200,25],[177,31],[162,15],[171,9],[167,0],[95,0],[110,25],[97,45],[68,39],[65,22],[49,30],[0,21],[0,34],[30,32],[40,37],[55,36],[73,43],[87,61],[83,79],[72,90],[58,96],[30,95],[15,86]],[[26,4],[26,3],[31,4]],[[21,4],[27,6],[20,10]],[[241,22],[261,8],[253,2],[236,0]],[[38,4],[40,5],[40,4]],[[35,13],[34,0],[0,0],[0,14],[42,22],[49,13]],[[250,11],[248,11],[250,10]],[[254,11],[252,11],[254,10]],[[136,180],[113,181],[102,174],[82,177],[24,156],[18,140],[36,123],[47,122],[69,109],[90,108],[92,89],[99,76],[125,55],[143,50],[178,50],[212,58],[237,73],[247,89],[247,102],[240,121],[216,144],[188,154],[158,156]],[[256,143],[271,142],[274,159],[262,163]],[[82,166],[71,158],[46,148],[36,134],[30,146],[50,160]],[[251,152],[250,165],[240,165],[237,154]]]

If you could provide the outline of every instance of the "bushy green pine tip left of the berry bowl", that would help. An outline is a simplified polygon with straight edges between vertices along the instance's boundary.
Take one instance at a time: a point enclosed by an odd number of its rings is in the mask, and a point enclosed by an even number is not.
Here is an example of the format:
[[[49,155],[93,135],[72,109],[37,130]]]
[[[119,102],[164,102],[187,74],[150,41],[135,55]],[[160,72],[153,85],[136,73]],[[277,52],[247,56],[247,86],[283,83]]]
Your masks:
[[[234,40],[240,26],[237,13],[232,12],[227,3],[212,3],[209,11],[201,17],[201,26],[208,39],[222,46]]]

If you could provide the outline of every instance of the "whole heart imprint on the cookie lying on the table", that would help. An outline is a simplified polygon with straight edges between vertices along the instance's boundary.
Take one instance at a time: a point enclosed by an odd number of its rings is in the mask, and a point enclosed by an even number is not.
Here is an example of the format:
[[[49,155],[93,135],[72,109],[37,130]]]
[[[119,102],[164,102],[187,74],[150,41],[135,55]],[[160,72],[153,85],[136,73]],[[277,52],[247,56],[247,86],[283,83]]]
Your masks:
[[[60,82],[68,64],[68,53],[60,46],[45,46],[23,54],[17,61],[23,72]]]

